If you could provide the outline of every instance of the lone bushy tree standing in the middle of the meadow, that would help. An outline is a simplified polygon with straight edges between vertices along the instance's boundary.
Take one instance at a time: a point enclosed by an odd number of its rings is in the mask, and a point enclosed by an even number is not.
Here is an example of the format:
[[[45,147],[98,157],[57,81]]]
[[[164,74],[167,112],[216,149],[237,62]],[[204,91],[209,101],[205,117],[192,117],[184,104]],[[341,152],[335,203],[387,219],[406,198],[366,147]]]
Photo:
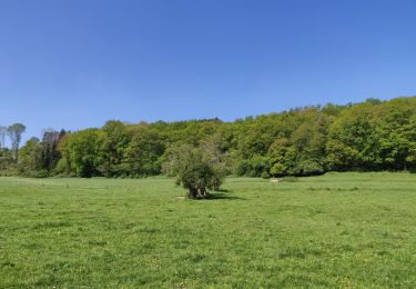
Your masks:
[[[204,150],[189,144],[175,146],[166,152],[164,171],[176,177],[176,183],[187,189],[187,198],[205,198],[209,190],[219,189],[222,176],[206,161]]]

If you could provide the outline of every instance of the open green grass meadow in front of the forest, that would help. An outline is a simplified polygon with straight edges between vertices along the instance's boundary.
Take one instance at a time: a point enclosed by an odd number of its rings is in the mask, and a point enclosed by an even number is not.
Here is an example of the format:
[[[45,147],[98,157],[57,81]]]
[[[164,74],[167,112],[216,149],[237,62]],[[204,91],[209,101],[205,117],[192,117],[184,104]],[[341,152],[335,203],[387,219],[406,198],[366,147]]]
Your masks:
[[[416,175],[0,178],[0,287],[416,287]]]

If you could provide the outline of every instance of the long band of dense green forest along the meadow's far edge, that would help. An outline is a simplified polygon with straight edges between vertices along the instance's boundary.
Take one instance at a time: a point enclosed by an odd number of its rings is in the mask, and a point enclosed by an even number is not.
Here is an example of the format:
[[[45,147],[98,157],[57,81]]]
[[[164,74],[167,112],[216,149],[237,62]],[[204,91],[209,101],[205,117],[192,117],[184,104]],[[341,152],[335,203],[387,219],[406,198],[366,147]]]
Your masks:
[[[233,122],[110,120],[74,132],[47,130],[24,144],[22,133],[21,123],[0,127],[0,176],[155,176],[169,172],[172,152],[192,148],[221,163],[224,175],[415,170],[416,97],[304,107]]]

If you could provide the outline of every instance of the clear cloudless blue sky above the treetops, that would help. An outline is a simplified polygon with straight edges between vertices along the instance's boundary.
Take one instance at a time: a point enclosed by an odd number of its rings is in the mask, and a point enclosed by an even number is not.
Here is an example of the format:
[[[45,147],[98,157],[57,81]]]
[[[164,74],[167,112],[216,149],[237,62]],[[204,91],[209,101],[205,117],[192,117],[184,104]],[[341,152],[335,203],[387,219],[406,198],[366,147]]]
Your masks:
[[[416,94],[415,0],[0,0],[0,124],[224,120]]]

